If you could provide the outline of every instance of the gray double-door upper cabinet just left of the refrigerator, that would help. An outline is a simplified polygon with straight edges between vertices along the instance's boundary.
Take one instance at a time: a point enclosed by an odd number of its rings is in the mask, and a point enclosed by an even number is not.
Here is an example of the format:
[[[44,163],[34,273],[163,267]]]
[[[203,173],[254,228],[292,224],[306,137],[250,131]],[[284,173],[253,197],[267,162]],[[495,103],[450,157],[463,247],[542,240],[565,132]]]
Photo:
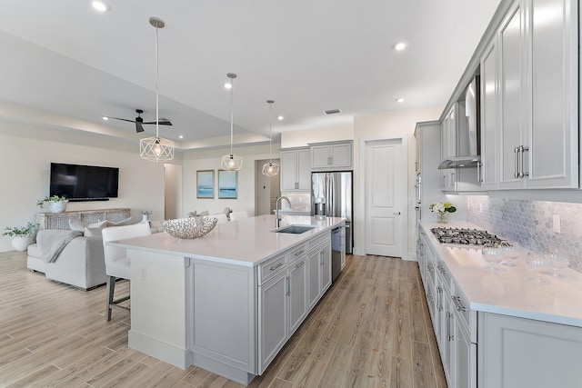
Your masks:
[[[309,148],[281,150],[281,191],[311,190],[311,152]]]

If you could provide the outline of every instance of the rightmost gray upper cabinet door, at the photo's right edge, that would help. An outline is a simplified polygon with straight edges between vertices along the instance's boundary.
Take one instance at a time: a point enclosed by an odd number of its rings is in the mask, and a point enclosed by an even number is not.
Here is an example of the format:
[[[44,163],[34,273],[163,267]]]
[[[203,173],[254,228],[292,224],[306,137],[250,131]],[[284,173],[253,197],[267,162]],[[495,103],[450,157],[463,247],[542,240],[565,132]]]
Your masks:
[[[528,187],[577,187],[576,0],[530,0]],[[529,55],[528,55],[529,56]],[[526,153],[526,156],[528,154]]]

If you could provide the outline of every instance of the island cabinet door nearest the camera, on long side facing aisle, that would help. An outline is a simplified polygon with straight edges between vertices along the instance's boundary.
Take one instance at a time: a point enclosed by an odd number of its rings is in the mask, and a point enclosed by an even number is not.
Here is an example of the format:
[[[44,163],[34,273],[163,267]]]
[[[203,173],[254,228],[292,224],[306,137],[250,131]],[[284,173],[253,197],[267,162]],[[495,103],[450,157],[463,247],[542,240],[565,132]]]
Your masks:
[[[273,361],[287,339],[287,273],[277,274],[258,287],[259,373]]]

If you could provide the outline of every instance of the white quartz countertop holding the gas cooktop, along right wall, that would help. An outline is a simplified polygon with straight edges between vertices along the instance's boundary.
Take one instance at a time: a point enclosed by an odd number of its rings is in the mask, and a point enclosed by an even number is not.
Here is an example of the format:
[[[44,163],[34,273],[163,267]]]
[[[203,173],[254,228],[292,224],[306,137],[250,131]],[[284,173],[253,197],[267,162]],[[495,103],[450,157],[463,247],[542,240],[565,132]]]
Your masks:
[[[482,258],[480,248],[440,244],[430,230],[433,227],[485,228],[460,222],[422,223],[422,227],[437,256],[447,264],[467,296],[472,310],[582,327],[582,274],[564,268],[559,271],[564,277],[556,278],[549,274],[551,268],[545,267],[541,272],[547,284],[536,284],[530,281],[536,273],[523,257],[514,261],[515,267],[497,264],[502,271],[491,273],[487,271],[490,264]]]

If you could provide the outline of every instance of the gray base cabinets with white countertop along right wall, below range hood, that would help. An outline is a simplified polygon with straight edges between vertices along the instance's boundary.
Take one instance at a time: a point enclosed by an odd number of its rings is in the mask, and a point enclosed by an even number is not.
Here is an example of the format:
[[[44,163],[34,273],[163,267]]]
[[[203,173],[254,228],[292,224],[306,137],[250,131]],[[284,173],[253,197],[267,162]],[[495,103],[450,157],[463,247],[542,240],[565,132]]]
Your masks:
[[[527,250],[488,272],[481,247],[438,242],[431,229],[443,226],[421,224],[418,264],[449,386],[581,386],[582,274],[551,276]]]

